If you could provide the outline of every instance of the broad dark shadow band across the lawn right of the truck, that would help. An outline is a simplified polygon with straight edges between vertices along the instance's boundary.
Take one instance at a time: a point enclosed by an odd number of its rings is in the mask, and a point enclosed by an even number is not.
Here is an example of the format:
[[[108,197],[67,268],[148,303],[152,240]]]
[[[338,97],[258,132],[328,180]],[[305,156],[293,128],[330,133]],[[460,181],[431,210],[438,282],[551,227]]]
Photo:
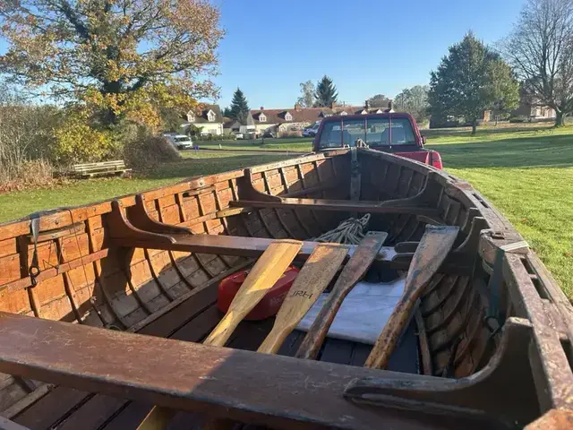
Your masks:
[[[573,166],[573,135],[532,136],[495,142],[428,144],[445,168],[562,168]]]

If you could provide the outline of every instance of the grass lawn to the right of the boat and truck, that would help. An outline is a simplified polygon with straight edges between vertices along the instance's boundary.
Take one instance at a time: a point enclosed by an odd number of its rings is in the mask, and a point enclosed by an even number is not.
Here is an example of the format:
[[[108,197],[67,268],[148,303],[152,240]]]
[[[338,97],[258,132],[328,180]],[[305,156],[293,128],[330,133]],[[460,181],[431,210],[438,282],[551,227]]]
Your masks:
[[[573,127],[440,133],[427,147],[511,221],[573,300]]]

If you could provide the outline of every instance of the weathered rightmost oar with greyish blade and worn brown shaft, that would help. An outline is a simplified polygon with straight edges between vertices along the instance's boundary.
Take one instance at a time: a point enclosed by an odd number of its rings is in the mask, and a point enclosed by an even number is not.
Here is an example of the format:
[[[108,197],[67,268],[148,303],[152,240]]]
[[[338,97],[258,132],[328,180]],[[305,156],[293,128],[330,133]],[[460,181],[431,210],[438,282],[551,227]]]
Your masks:
[[[426,226],[408,269],[404,293],[376,340],[364,366],[376,369],[388,366],[389,357],[410,319],[416,300],[420,298],[426,283],[432,279],[448,256],[458,231],[458,227]]]

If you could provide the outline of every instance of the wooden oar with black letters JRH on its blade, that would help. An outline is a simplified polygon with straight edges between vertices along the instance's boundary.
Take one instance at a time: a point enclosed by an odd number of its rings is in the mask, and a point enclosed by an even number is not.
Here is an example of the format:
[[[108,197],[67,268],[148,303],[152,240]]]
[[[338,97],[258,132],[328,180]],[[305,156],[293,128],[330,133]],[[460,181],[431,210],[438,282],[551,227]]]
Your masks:
[[[314,302],[336,275],[348,254],[348,246],[338,244],[317,245],[296,276],[281,305],[272,330],[261,343],[258,352],[275,354],[290,331],[293,331]]]

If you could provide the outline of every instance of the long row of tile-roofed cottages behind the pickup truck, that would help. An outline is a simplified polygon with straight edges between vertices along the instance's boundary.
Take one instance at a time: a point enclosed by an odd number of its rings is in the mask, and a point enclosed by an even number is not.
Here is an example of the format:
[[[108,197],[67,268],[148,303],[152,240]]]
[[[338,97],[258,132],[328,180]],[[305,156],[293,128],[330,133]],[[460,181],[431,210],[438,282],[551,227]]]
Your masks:
[[[364,106],[348,106],[333,104],[330,107],[301,107],[295,104],[292,108],[251,110],[252,120],[257,133],[271,131],[277,136],[300,136],[303,129],[332,115],[355,115],[368,113],[383,113],[387,109]]]

